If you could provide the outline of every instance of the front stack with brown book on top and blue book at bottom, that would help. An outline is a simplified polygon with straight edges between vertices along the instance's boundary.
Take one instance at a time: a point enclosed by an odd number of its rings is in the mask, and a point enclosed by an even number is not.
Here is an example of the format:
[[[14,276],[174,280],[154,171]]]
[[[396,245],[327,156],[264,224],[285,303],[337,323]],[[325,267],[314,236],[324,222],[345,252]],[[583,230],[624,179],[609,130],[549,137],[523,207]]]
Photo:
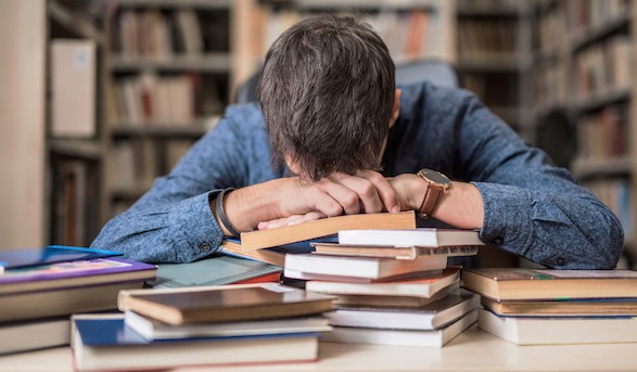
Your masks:
[[[122,291],[120,315],[77,315],[78,371],[308,362],[333,296],[278,283]]]

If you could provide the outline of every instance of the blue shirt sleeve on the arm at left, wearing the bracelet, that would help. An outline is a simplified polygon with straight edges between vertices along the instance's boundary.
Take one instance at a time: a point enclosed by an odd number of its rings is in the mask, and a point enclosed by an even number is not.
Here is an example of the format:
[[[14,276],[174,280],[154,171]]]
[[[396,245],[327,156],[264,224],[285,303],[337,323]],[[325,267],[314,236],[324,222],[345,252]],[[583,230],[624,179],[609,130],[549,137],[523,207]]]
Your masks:
[[[130,209],[109,221],[92,247],[146,262],[189,262],[215,253],[222,231],[208,201],[225,188],[245,184],[246,142],[224,118],[155,180]]]

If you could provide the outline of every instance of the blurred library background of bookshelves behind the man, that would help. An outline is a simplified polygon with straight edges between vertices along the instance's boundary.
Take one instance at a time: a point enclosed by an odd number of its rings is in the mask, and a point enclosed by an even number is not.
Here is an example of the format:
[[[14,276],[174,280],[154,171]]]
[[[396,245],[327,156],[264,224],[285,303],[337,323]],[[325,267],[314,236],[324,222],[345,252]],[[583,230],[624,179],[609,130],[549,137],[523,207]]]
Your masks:
[[[0,0],[0,248],[86,246],[167,174],[290,25],[365,17],[397,65],[443,62],[622,220],[633,267],[629,0]],[[634,21],[635,20],[635,21]],[[488,259],[488,258],[487,258]],[[497,257],[511,262],[511,257]]]

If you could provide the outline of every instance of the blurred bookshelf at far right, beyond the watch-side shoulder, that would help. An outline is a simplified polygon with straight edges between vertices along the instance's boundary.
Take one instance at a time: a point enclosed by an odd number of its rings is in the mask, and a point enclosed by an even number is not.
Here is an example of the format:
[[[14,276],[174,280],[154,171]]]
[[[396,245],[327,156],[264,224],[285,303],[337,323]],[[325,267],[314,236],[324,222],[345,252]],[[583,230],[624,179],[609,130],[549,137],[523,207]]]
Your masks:
[[[621,265],[634,269],[636,9],[629,0],[543,0],[533,13],[538,25],[534,56],[542,62],[534,72],[537,125],[551,111],[569,113],[575,137],[569,166],[622,221],[626,249]]]

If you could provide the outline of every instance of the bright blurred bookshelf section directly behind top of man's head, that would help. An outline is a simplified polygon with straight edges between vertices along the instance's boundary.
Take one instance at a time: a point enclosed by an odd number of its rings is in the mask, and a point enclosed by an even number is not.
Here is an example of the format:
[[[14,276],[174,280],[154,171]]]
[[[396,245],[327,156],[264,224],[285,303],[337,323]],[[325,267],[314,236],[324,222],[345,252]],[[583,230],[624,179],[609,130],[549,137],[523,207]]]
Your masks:
[[[237,4],[234,84],[247,80],[267,49],[294,23],[321,13],[357,15],[374,27],[394,61],[422,57],[456,62],[455,0],[251,0]]]

